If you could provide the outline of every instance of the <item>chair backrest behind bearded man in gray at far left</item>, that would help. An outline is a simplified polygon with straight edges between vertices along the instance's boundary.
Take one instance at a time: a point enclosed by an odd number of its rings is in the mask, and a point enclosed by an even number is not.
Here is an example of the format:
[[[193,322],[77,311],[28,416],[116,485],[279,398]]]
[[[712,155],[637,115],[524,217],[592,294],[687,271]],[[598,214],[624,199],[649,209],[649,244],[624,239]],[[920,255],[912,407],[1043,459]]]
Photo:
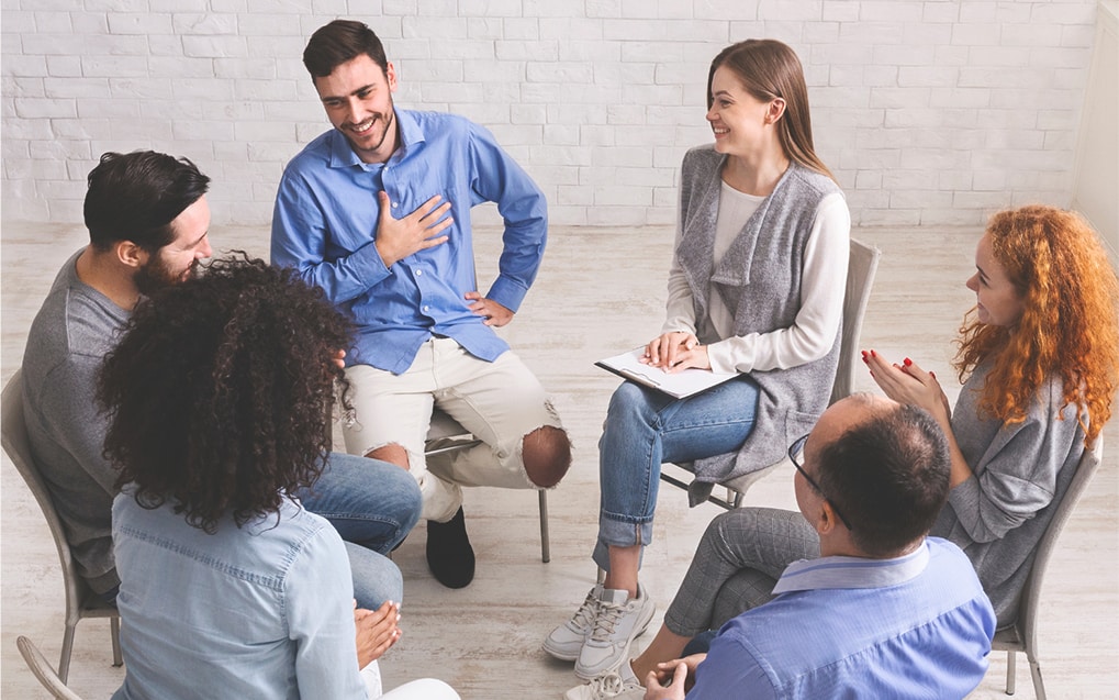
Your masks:
[[[70,554],[69,543],[66,541],[66,530],[63,521],[55,510],[55,502],[50,497],[46,482],[39,474],[39,467],[35,463],[31,454],[31,441],[27,436],[27,423],[23,419],[23,377],[22,370],[17,370],[3,388],[0,395],[0,440],[3,450],[8,452],[11,463],[16,465],[16,470],[27,482],[27,487],[39,503],[50,534],[55,539],[55,548],[58,550],[58,560],[63,567],[63,585],[66,588],[66,614],[67,617],[76,616],[82,608],[87,596],[93,595],[90,587],[77,573],[74,558]],[[68,620],[69,623],[76,622]]]

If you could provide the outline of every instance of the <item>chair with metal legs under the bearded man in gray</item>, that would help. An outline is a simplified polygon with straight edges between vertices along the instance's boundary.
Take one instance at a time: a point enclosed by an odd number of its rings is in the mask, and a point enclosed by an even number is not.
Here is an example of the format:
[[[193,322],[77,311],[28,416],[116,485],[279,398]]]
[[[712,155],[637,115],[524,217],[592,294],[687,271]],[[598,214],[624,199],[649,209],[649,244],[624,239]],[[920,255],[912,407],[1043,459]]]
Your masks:
[[[16,374],[8,380],[8,384],[4,385],[3,394],[0,396],[0,412],[2,412],[0,414],[0,437],[2,437],[3,450],[8,452],[8,457],[16,465],[16,470],[27,482],[28,488],[31,489],[31,494],[39,503],[39,508],[50,528],[50,534],[55,539],[55,549],[58,550],[58,561],[63,568],[63,587],[66,590],[66,628],[63,632],[63,652],[62,659],[58,661],[58,678],[63,683],[66,683],[66,678],[69,674],[70,651],[74,647],[74,628],[78,620],[86,617],[109,618],[113,642],[113,665],[119,666],[124,663],[121,656],[121,615],[115,607],[94,594],[86,585],[85,579],[78,576],[74,558],[70,556],[69,543],[66,542],[63,521],[58,517],[50,492],[47,491],[39,467],[35,463],[35,456],[31,454],[31,444],[27,437],[27,423],[23,420],[22,370],[17,370]]]

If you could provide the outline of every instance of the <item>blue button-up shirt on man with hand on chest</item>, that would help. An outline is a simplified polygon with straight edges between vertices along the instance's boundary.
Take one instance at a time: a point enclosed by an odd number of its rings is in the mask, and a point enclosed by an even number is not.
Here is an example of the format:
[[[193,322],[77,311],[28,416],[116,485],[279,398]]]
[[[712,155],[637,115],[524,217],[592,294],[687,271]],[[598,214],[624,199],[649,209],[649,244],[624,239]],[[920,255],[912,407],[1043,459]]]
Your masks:
[[[401,374],[432,334],[492,362],[509,346],[463,298],[477,289],[470,208],[493,202],[505,220],[499,273],[486,297],[516,311],[544,254],[544,194],[467,119],[397,109],[396,121],[401,146],[387,162],[361,162],[333,129],[292,159],[276,194],[272,262],[295,268],[351,314],[358,332],[348,364]],[[450,202],[448,242],[386,268],[374,245],[382,189],[396,218],[434,195]]]

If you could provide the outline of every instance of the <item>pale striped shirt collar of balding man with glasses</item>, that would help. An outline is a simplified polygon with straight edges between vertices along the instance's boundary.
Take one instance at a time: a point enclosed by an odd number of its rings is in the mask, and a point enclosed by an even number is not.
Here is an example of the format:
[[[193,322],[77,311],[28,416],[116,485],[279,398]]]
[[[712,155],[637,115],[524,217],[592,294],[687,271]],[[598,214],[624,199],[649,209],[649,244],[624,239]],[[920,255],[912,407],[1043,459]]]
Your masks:
[[[895,559],[820,557],[789,564],[774,594],[818,588],[886,588],[916,578],[929,563],[929,542]]]

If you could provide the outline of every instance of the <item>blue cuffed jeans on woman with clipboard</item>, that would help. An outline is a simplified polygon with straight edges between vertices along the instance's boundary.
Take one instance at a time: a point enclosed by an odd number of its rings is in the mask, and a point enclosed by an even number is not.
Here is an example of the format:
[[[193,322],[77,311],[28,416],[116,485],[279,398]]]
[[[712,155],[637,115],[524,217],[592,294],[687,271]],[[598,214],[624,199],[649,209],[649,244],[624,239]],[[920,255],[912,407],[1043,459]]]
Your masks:
[[[626,382],[610,399],[599,440],[599,541],[594,562],[610,570],[608,545],[652,541],[660,465],[736,451],[754,427],[758,384],[749,375],[687,399]]]

